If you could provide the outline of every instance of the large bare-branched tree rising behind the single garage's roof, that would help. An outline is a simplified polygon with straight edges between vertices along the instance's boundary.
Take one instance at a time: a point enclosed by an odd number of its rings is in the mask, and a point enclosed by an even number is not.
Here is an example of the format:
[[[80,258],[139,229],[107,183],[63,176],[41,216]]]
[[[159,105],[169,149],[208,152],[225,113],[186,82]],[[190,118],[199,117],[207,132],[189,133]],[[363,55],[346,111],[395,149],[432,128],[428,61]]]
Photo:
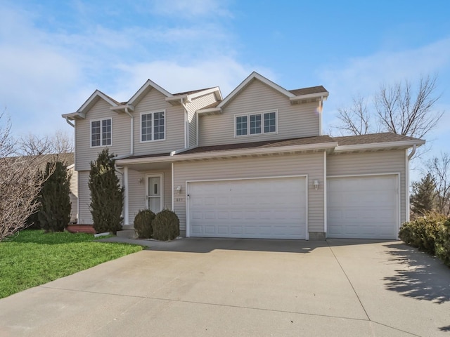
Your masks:
[[[352,135],[381,131],[423,138],[444,114],[435,110],[440,98],[436,81],[437,77],[428,75],[420,77],[415,88],[408,80],[382,85],[373,99],[373,110],[368,112],[365,100],[355,98],[351,107],[339,110],[336,128]]]

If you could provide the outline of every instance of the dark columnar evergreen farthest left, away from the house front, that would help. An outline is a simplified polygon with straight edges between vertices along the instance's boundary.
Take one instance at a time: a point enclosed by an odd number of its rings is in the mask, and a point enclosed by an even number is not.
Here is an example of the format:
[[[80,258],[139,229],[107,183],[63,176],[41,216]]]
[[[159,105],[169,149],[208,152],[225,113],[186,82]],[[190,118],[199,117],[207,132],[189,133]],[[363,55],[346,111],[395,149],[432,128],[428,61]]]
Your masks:
[[[63,232],[70,222],[70,174],[61,161],[46,164],[37,214],[46,232]]]

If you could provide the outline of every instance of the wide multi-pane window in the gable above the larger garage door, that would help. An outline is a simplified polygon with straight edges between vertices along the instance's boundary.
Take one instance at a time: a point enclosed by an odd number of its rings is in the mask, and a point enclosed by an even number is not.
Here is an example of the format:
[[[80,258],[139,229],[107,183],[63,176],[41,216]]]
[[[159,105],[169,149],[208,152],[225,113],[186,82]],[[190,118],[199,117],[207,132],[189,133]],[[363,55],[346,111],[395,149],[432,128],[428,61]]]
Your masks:
[[[276,133],[276,111],[238,115],[235,126],[236,136]]]

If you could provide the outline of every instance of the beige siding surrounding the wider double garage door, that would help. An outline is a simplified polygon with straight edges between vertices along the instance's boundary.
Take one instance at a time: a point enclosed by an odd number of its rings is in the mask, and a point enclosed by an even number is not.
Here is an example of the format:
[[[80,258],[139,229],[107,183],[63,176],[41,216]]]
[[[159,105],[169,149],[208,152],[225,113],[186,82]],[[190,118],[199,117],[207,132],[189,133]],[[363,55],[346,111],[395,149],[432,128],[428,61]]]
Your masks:
[[[211,159],[174,164],[174,185],[181,185],[180,201],[175,198],[174,211],[180,229],[186,232],[186,180],[222,180],[233,178],[268,178],[308,175],[308,230],[323,232],[323,153],[277,155],[235,159]],[[314,179],[321,188],[314,190]],[[270,193],[270,191],[267,191]]]

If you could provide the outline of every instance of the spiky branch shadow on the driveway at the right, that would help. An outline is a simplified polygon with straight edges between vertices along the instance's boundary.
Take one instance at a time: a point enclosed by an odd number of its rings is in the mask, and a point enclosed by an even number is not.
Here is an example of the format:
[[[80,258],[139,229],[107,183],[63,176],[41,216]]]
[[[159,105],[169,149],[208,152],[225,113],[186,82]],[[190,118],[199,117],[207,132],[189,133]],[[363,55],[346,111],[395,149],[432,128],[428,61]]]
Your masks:
[[[450,300],[450,268],[437,258],[400,243],[385,244],[390,261],[406,268],[385,277],[386,288],[402,296],[442,304]],[[450,331],[450,326],[441,328]]]

